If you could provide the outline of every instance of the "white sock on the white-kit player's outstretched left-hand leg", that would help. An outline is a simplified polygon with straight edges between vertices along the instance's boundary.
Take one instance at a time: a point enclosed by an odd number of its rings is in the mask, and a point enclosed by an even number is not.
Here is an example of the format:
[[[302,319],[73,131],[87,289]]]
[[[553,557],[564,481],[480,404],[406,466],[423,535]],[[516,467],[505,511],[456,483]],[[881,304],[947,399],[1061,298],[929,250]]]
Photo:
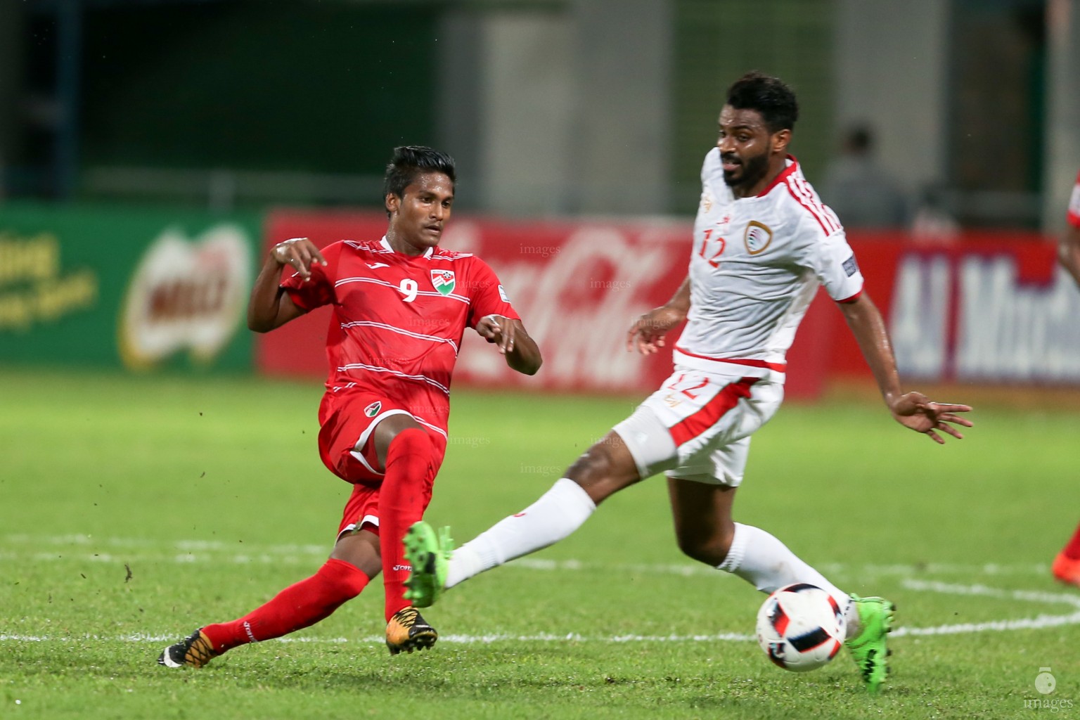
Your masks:
[[[559,479],[524,511],[454,551],[446,587],[558,542],[580,528],[594,510],[595,503],[580,485],[567,477]]]

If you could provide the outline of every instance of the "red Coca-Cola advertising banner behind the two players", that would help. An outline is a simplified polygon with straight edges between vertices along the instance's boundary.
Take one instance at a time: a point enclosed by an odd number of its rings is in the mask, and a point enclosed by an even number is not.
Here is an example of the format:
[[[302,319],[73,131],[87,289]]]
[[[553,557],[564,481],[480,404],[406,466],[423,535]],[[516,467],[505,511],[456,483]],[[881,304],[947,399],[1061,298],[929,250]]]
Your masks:
[[[332,242],[381,237],[381,213],[275,212],[268,247],[289,237]],[[475,253],[499,275],[544,365],[528,378],[472,331],[455,369],[457,384],[646,395],[671,375],[671,352],[642,357],[624,349],[626,330],[642,313],[665,302],[686,277],[691,223],[545,222],[455,217],[442,246]],[[835,311],[834,311],[835,312]],[[261,336],[256,366],[270,375],[325,377],[328,310],[311,313]],[[821,327],[818,327],[818,326]],[[828,344],[827,322],[808,317],[796,341],[788,395],[818,392]],[[674,342],[678,330],[671,335]],[[802,345],[806,345],[802,348]],[[800,350],[801,348],[801,350]]]

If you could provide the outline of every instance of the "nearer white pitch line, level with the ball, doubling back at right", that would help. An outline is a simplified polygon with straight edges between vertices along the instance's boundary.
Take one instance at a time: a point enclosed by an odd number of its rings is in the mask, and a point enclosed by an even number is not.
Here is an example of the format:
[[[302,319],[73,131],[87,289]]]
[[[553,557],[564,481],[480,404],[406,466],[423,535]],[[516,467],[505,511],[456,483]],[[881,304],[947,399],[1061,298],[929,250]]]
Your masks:
[[[919,593],[943,593],[948,595],[984,596],[1003,600],[1020,600],[1027,602],[1064,603],[1074,608],[1080,608],[1080,596],[1066,593],[1044,593],[1032,590],[1007,590],[985,585],[956,585],[949,583],[924,582],[917,580],[903,581],[903,585]],[[1061,627],[1063,625],[1080,625],[1080,610],[1066,615],[1040,614],[1036,617],[1022,617],[1015,620],[995,620],[982,623],[958,623],[951,625],[937,625],[933,627],[907,627],[902,626],[893,631],[892,637],[905,636],[930,636],[930,635],[970,635],[974,633],[1001,633],[1005,630],[1032,630],[1050,627]],[[112,642],[170,642],[177,638],[176,635],[145,634],[119,636],[98,635],[11,635],[0,633],[0,642],[84,642],[87,640],[112,641]],[[441,635],[440,642],[455,644],[490,644],[495,642],[750,642],[754,640],[753,635],[740,633],[719,633],[716,635],[615,635],[615,636],[584,636],[577,633],[556,635],[542,633],[538,635]],[[353,640],[347,638],[279,638],[273,642],[314,642],[314,643],[349,643],[360,644],[381,644],[386,638],[379,636],[366,636]]]

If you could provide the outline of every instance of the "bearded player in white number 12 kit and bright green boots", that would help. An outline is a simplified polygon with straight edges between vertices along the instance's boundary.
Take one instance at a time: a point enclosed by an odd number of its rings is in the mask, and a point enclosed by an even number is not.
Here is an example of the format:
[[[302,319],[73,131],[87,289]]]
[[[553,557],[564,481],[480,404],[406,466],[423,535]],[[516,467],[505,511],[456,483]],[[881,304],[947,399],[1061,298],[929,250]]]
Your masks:
[[[810,583],[847,609],[847,646],[870,692],[886,679],[893,604],[849,596],[759,528],[734,522],[751,436],[780,407],[784,355],[819,285],[837,301],[893,419],[936,443],[966,405],[901,389],[878,310],[840,222],[787,154],[798,116],[775,78],[750,73],[728,91],[719,139],[702,167],[690,268],[675,296],[634,323],[627,349],[657,352],[684,318],[675,370],[566,471],[543,497],[457,551],[419,522],[406,534],[406,597],[428,607],[463,580],[569,535],[612,493],[663,472],[679,548],[764,593]]]

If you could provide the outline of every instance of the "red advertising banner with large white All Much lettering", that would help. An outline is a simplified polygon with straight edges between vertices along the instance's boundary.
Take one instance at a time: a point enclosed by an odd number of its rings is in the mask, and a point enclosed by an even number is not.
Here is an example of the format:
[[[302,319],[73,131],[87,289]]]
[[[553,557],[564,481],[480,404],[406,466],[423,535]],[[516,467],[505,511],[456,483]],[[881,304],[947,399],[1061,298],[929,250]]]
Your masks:
[[[1080,290],[1035,233],[980,233],[926,247],[904,236],[852,240],[905,379],[1080,383]],[[832,377],[868,376],[837,337]]]

